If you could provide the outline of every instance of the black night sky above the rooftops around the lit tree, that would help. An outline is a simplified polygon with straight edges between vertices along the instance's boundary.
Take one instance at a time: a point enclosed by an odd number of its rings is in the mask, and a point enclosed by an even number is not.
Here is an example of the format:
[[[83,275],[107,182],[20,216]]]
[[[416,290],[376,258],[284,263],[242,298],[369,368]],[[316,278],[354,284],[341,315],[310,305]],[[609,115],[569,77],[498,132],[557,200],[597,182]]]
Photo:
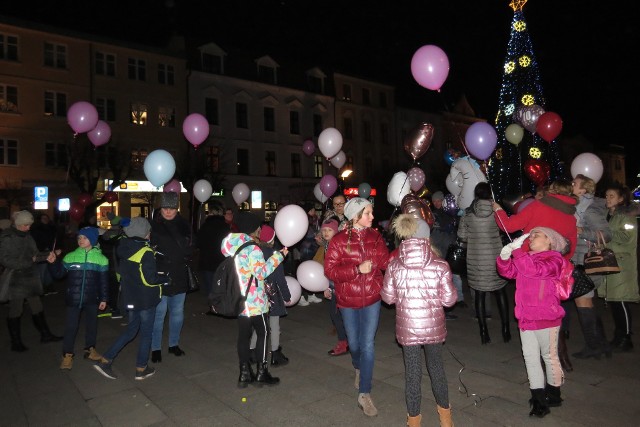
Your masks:
[[[0,13],[162,45],[172,29],[225,47],[294,57],[397,86],[413,107],[442,111],[465,94],[493,122],[513,11],[508,0],[138,0],[2,2]],[[22,3],[22,4],[17,4]],[[381,4],[376,4],[381,3]],[[118,6],[121,5],[121,6]],[[626,147],[638,171],[640,2],[529,0],[524,7],[546,110],[563,136]],[[423,45],[450,62],[441,92],[419,86],[410,62]],[[627,173],[628,176],[635,175]],[[628,182],[633,187],[635,181]]]

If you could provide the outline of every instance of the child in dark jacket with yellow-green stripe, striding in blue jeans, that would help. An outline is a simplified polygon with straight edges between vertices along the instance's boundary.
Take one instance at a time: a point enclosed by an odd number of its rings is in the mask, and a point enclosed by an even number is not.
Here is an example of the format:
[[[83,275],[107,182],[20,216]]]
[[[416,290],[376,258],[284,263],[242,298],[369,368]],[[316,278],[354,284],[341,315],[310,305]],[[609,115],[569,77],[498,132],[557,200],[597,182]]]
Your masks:
[[[166,282],[156,271],[156,259],[149,246],[151,224],[145,218],[132,218],[127,227],[127,235],[118,245],[120,259],[119,273],[122,297],[129,312],[127,329],[120,334],[111,347],[104,353],[94,368],[103,376],[112,380],[118,377],[111,364],[118,353],[132,341],[138,332],[140,342],[136,357],[136,380],[144,380],[155,373],[147,366],[151,349],[151,332],[156,316],[156,306],[162,297],[162,285]]]

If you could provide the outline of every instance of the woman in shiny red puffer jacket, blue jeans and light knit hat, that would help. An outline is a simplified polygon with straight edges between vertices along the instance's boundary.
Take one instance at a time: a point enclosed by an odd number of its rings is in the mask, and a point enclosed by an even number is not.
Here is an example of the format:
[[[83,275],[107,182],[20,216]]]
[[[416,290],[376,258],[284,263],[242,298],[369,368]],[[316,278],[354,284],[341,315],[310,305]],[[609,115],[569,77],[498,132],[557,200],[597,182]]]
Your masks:
[[[347,227],[329,242],[324,274],[334,282],[337,306],[344,321],[355,368],[358,406],[365,415],[378,414],[371,400],[375,336],[380,319],[383,271],[389,250],[382,235],[371,227],[373,206],[354,197],[344,207]]]

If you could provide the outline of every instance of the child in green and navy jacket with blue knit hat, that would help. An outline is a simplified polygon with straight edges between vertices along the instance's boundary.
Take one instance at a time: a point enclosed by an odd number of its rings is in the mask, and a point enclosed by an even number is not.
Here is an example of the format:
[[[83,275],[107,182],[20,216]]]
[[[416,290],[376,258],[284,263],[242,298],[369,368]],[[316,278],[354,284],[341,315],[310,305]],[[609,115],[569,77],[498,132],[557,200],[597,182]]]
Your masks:
[[[96,351],[98,310],[104,310],[107,306],[109,260],[99,248],[95,247],[98,234],[96,227],[80,229],[77,237],[78,247],[65,255],[62,265],[56,264],[58,270],[64,269],[68,272],[65,295],[67,320],[64,327],[60,369],[73,367],[73,346],[83,311],[85,312],[84,358],[98,361],[102,357]]]

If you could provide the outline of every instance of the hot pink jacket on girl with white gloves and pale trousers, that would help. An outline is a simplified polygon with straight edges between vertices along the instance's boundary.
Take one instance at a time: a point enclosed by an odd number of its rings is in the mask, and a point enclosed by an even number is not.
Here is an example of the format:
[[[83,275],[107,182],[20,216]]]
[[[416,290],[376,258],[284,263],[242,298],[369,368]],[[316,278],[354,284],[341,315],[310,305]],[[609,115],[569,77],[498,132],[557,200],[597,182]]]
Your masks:
[[[556,290],[556,280],[564,263],[569,263],[560,252],[526,252],[520,248],[511,258],[498,257],[498,273],[507,279],[516,279],[516,308],[518,327],[523,331],[560,326],[564,309]]]

